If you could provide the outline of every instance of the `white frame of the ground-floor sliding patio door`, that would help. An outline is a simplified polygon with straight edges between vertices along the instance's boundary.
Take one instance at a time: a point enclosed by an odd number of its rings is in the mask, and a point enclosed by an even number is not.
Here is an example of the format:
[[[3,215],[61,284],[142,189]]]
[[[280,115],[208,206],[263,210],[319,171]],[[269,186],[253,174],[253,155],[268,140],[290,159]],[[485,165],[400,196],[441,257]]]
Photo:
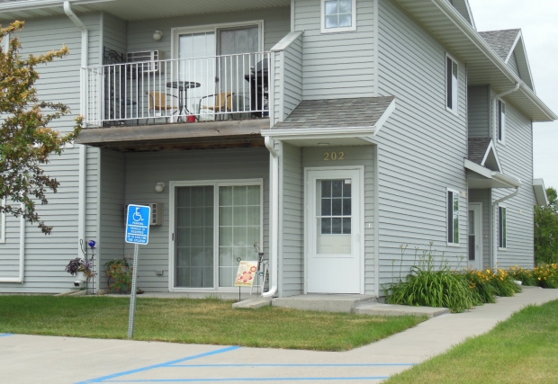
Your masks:
[[[168,225],[168,290],[171,292],[238,292],[236,287],[219,286],[219,187],[259,185],[260,187],[260,247],[264,248],[264,179],[239,179],[239,180],[199,180],[199,181],[171,181],[169,183],[169,225]],[[192,288],[175,286],[175,189],[176,187],[213,187],[213,287]],[[249,288],[242,288],[249,291]]]

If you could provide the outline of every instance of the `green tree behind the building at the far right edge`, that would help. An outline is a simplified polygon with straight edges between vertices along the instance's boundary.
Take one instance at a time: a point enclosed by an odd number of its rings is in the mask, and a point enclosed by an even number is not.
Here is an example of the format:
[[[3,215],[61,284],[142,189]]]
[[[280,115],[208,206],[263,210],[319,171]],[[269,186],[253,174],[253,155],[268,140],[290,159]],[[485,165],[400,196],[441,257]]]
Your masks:
[[[547,188],[549,204],[535,207],[535,259],[536,263],[558,263],[558,195]]]

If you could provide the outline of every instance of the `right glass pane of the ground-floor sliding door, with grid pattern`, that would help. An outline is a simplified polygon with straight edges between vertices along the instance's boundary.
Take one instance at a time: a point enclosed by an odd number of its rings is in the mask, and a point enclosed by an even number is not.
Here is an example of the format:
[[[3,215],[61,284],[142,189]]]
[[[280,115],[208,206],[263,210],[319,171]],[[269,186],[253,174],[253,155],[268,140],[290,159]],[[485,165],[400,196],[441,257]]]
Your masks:
[[[254,243],[261,237],[260,186],[222,186],[219,196],[219,286],[232,287],[237,259],[257,260]]]

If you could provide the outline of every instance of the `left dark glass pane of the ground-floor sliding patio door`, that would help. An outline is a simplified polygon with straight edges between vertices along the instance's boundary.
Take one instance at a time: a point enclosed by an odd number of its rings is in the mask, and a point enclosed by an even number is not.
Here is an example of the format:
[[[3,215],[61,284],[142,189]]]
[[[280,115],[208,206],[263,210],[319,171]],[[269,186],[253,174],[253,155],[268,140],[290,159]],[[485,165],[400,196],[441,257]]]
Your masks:
[[[176,287],[213,288],[213,187],[176,188]]]

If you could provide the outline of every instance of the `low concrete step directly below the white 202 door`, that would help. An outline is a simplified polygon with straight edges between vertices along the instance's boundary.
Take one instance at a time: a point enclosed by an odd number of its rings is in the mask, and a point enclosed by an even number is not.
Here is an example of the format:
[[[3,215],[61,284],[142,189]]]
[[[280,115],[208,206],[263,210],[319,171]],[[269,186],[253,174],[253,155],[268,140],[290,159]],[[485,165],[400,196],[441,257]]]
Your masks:
[[[273,299],[271,305],[320,312],[354,313],[357,306],[372,304],[375,301],[376,297],[369,295],[300,295]]]

